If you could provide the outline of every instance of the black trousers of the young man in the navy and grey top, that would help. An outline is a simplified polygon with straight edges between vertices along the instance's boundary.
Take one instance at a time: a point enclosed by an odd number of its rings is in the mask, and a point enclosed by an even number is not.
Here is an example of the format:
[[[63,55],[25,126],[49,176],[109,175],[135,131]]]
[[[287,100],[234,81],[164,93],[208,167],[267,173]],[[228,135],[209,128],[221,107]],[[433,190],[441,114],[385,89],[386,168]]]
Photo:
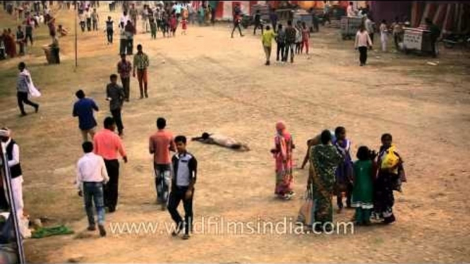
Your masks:
[[[185,199],[186,191],[188,191],[188,187],[173,187],[174,189],[170,193],[170,197],[168,199],[168,211],[171,214],[171,218],[175,221],[175,224],[178,227],[182,227],[183,219],[178,213],[178,205],[183,200],[183,207],[184,207],[184,233],[189,234],[190,230],[193,228],[193,197],[189,200]],[[194,189],[193,189],[193,196],[194,196]]]

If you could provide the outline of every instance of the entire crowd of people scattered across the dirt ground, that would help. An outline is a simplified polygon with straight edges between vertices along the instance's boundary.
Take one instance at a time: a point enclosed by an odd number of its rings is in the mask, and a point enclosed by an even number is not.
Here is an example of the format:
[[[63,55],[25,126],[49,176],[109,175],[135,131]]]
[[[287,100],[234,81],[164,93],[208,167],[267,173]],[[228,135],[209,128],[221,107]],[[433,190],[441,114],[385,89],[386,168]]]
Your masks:
[[[32,12],[40,12],[38,1],[33,3],[33,10],[24,13],[25,32],[22,26],[18,26],[16,40],[27,40],[33,44],[32,28],[38,27],[38,21],[31,16]],[[82,31],[98,31],[99,14],[96,8],[99,1],[61,1],[64,2],[61,8],[71,8],[70,2],[80,20]],[[116,9],[118,1],[109,1],[110,11]],[[121,30],[121,60],[117,62],[116,72],[110,75],[110,82],[106,85],[106,100],[109,101],[111,116],[103,120],[103,129],[97,131],[97,121],[94,112],[99,111],[95,101],[86,97],[83,90],[76,92],[77,102],[73,105],[73,116],[78,118],[78,127],[82,135],[82,148],[84,156],[77,163],[76,184],[79,188],[79,195],[84,197],[86,214],[88,217],[88,230],[96,230],[96,221],[92,209],[95,204],[98,215],[98,229],[101,236],[106,235],[104,227],[105,209],[108,213],[116,211],[119,198],[119,156],[127,163],[127,153],[121,137],[124,135],[124,124],[121,116],[125,103],[130,101],[130,78],[136,77],[139,85],[140,99],[149,97],[148,75],[149,56],[143,52],[143,45],[137,45],[137,53],[133,53],[133,36],[137,33],[138,17],[140,14],[141,30],[143,33],[150,31],[151,37],[156,38],[158,29],[163,36],[175,36],[177,25],[190,23],[191,12],[188,3],[158,3],[157,5],[144,5],[138,11],[136,5],[122,1],[123,15],[119,20]],[[203,6],[203,10],[207,8]],[[58,55],[58,40],[55,38],[55,19],[48,10],[48,4],[42,5],[46,12],[45,23],[49,25],[50,35],[53,38],[52,49],[57,52],[55,57],[60,62]],[[27,9],[23,9],[27,10]],[[208,14],[206,12],[205,14]],[[240,29],[241,10],[240,5],[234,8],[234,31]],[[272,18],[273,19],[273,18]],[[372,46],[373,34],[367,31],[371,24],[368,18],[364,18],[361,29],[356,36],[356,47],[360,52],[361,66],[366,64],[367,49]],[[293,21],[288,21],[286,27],[281,23],[262,25],[260,13],[254,17],[256,26],[253,34],[256,34],[258,27],[262,29],[262,46],[266,54],[266,65],[270,64],[271,47],[273,40],[277,43],[276,60],[287,62],[290,55],[290,62],[294,62],[295,54],[309,52],[310,29],[306,23],[298,22],[293,25]],[[51,26],[52,25],[52,26]],[[397,42],[401,34],[396,21],[393,29],[397,33]],[[382,31],[382,25],[381,31]],[[65,30],[65,29],[64,29]],[[384,29],[385,30],[385,29]],[[62,29],[60,29],[62,31]],[[111,17],[106,21],[106,35],[108,44],[113,42],[114,26]],[[4,42],[7,38],[9,45],[13,36],[11,31],[5,31]],[[8,48],[10,56],[11,45]],[[24,47],[19,45],[20,53]],[[13,54],[13,53],[12,53]],[[127,60],[127,55],[134,55],[132,63]],[[13,56],[12,56],[13,57]],[[16,84],[18,107],[22,116],[27,115],[24,105],[34,107],[38,112],[39,105],[29,101],[32,93],[32,77],[24,62],[18,65],[18,79]],[[121,79],[121,85],[118,83]],[[173,133],[166,131],[166,120],[158,118],[156,121],[158,131],[149,138],[149,153],[153,155],[153,170],[155,174],[156,200],[162,209],[168,209],[177,229],[173,235],[178,235],[184,230],[183,239],[190,237],[193,220],[193,196],[197,179],[197,159],[195,155],[186,150],[187,139],[184,135],[173,137]],[[115,130],[117,129],[117,133]],[[286,124],[278,122],[275,126],[277,131],[274,142],[275,146],[271,150],[275,159],[275,191],[278,198],[290,200],[295,196],[293,192],[293,150],[295,144],[293,136],[288,133]],[[19,150],[12,140],[12,133],[8,128],[0,130],[0,140],[7,144],[8,164],[12,170],[14,178],[21,176],[19,167]],[[206,144],[216,144],[225,146],[233,150],[249,151],[250,148],[241,142],[221,135],[210,135],[203,133],[201,137],[193,137],[194,141]],[[368,225],[371,219],[383,220],[390,224],[395,221],[393,214],[394,197],[393,192],[401,191],[401,183],[406,181],[404,174],[403,159],[397,153],[395,145],[392,143],[392,135],[386,133],[382,135],[382,146],[378,153],[370,150],[367,146],[360,146],[356,155],[357,161],[351,157],[351,142],[346,137],[346,129],[338,127],[334,132],[325,130],[320,135],[308,140],[308,152],[301,168],[305,168],[310,163],[308,186],[306,198],[310,200],[311,213],[308,220],[303,222],[308,227],[323,228],[323,224],[332,222],[332,197],[336,196],[338,213],[343,209],[343,196],[346,196],[346,207],[355,207],[354,220],[356,224]],[[175,155],[171,157],[171,152]],[[21,180],[22,181],[22,180]],[[15,183],[16,195],[19,197],[17,211],[23,211],[23,201],[21,195],[21,181]],[[183,202],[185,216],[184,219],[178,213],[177,207]],[[314,205],[313,205],[314,204]],[[319,224],[319,225],[318,225]],[[323,228],[324,230],[324,228]]]

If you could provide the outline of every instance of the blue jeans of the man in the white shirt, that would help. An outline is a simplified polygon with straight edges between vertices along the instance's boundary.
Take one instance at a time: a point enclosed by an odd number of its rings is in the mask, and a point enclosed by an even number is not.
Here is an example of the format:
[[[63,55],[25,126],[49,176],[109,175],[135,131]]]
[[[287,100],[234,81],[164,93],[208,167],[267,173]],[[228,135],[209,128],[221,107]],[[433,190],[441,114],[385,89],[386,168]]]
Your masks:
[[[95,215],[93,213],[93,202],[98,214],[98,224],[104,224],[104,201],[103,183],[86,182],[83,183],[83,197],[85,201],[85,211],[88,216],[88,224],[95,226]]]

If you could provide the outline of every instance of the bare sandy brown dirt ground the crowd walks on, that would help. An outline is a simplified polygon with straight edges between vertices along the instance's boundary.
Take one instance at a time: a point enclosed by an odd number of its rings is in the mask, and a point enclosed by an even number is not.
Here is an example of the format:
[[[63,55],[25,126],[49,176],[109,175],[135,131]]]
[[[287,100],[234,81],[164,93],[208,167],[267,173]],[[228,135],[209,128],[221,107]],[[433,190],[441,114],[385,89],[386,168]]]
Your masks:
[[[101,10],[101,19],[109,13]],[[114,21],[119,14],[113,13]],[[72,31],[73,12],[58,13]],[[14,21],[1,12],[2,25]],[[139,24],[140,26],[140,24]],[[246,142],[249,153],[190,143],[199,160],[195,217],[227,221],[282,221],[296,217],[306,185],[306,170],[295,170],[291,201],[276,200],[274,160],[269,153],[275,122],[284,120],[293,136],[296,167],[306,140],[323,129],[343,125],[358,146],[377,149],[380,135],[393,134],[406,161],[408,183],[396,194],[397,222],[356,228],[354,235],[194,235],[182,241],[166,233],[112,234],[100,238],[85,230],[82,200],[73,181],[81,157],[81,136],[71,116],[75,91],[83,88],[101,111],[108,76],[119,61],[118,39],[106,45],[102,31],[78,34],[74,70],[73,36],[61,38],[63,63],[45,64],[40,45],[49,42],[45,26],[29,55],[0,62],[0,124],[14,131],[21,146],[25,211],[49,217],[75,235],[25,241],[30,263],[448,263],[470,261],[469,53],[442,50],[430,59],[394,52],[369,53],[358,66],[351,40],[338,29],[313,34],[310,55],[294,64],[264,66],[259,36],[230,38],[230,25],[192,27],[187,36],[157,40],[136,36],[150,57],[149,96],[138,100],[131,81],[131,101],[123,109],[129,163],[121,163],[119,209],[110,222],[171,222],[155,204],[148,137],[159,116],[175,134],[223,133]],[[391,46],[391,45],[390,45]],[[378,44],[375,44],[378,48]],[[15,98],[16,65],[24,60],[43,96],[38,114],[19,117]],[[430,66],[426,62],[439,62]],[[32,111],[29,109],[29,111]],[[335,207],[336,208],[336,207]],[[353,211],[334,215],[347,221]]]

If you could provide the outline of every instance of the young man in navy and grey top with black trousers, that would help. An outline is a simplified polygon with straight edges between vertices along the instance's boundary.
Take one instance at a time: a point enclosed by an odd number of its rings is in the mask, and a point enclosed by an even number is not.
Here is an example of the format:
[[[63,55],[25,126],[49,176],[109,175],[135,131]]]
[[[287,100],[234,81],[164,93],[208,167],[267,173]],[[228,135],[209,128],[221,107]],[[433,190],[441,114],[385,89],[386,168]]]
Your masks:
[[[173,236],[177,236],[183,228],[183,239],[189,239],[190,231],[193,229],[193,197],[194,185],[197,176],[197,160],[186,151],[186,137],[179,135],[175,137],[177,154],[171,159],[173,163],[173,178],[171,179],[171,193],[168,200],[168,211],[176,223]],[[183,201],[184,222],[177,208]]]

